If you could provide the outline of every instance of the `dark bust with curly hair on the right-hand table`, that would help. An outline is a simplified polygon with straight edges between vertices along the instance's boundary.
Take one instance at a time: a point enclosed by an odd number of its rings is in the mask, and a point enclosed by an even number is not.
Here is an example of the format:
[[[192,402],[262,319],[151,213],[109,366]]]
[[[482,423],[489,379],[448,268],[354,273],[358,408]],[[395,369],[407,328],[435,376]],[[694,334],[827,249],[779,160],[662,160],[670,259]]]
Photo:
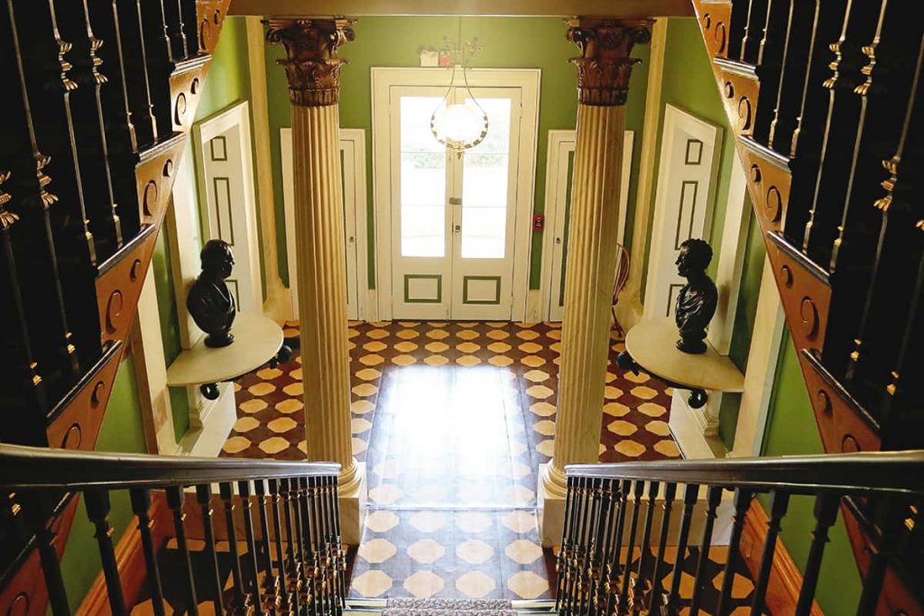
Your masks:
[[[675,321],[680,332],[677,348],[684,353],[705,353],[706,327],[715,314],[719,293],[706,267],[712,260],[712,248],[701,239],[691,238],[680,245],[677,273],[687,279],[677,295]]]

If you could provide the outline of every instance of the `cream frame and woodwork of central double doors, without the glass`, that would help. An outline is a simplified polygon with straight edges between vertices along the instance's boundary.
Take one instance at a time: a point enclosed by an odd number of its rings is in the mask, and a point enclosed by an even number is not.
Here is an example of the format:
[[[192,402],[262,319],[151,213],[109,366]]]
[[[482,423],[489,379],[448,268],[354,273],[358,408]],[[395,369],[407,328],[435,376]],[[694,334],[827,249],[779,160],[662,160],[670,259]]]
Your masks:
[[[460,199],[463,192],[468,194],[465,163],[458,163],[456,154],[450,152],[444,152],[445,166],[441,172],[445,178],[445,194],[437,195],[442,197],[439,200],[442,200],[441,205],[444,207],[442,224],[445,248],[442,252],[433,250],[432,258],[406,259],[401,254],[401,218],[395,206],[401,199],[402,145],[400,117],[395,115],[400,114],[401,96],[433,97],[438,104],[449,85],[451,70],[373,67],[371,72],[379,318],[521,320],[526,311],[529,287],[529,221],[535,181],[540,71],[468,71],[468,84],[477,98],[483,97],[486,103],[490,103],[491,99],[508,99],[512,102],[511,150],[507,152],[510,161],[507,168],[509,175],[505,211],[507,233],[503,238],[505,257],[509,259],[503,263],[493,259],[476,262],[463,256],[463,240],[467,229],[464,219],[468,211],[463,203],[472,199],[470,195]],[[517,97],[518,104],[515,103]],[[432,109],[435,108],[436,104],[433,104]],[[492,112],[488,112],[491,115]],[[423,117],[428,124],[431,113],[432,110]],[[432,136],[427,139],[432,139]],[[441,148],[435,139],[433,144]],[[427,153],[436,154],[436,148],[431,150],[426,144],[424,148]],[[469,153],[475,152],[473,150]],[[432,159],[433,164],[441,166],[436,156],[432,156]],[[435,228],[438,224],[434,216],[432,226]],[[454,235],[461,238],[453,239]],[[440,254],[443,256],[435,256]],[[396,259],[393,255],[396,255]],[[507,273],[505,268],[509,268],[510,272]]]

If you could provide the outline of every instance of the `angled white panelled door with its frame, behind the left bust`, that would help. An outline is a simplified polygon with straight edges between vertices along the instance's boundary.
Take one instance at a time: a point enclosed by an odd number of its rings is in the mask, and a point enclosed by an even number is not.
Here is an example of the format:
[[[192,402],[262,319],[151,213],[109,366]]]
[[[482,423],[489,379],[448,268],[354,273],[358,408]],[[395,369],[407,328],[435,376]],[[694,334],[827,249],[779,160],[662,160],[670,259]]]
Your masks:
[[[250,115],[245,101],[193,127],[202,221],[207,239],[223,239],[234,252],[227,279],[237,309],[262,314],[260,244],[250,151]]]

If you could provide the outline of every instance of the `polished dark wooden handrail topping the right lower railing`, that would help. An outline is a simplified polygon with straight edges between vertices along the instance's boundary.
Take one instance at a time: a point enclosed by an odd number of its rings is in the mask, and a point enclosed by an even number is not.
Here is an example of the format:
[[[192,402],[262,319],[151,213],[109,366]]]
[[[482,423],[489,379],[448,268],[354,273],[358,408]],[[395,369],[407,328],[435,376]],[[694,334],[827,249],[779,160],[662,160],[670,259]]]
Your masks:
[[[567,465],[565,472],[568,477],[785,489],[793,494],[834,490],[851,495],[924,495],[924,450]]]

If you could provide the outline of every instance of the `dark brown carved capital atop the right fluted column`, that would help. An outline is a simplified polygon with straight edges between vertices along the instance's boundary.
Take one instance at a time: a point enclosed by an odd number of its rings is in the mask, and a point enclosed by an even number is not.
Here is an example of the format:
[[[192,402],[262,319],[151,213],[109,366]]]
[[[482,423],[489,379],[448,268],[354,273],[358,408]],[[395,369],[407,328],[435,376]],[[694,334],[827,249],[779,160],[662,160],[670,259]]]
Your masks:
[[[638,58],[629,57],[635,43],[651,40],[652,19],[571,18],[567,39],[580,49],[571,58],[577,66],[577,99],[582,104],[626,104],[629,75]]]

